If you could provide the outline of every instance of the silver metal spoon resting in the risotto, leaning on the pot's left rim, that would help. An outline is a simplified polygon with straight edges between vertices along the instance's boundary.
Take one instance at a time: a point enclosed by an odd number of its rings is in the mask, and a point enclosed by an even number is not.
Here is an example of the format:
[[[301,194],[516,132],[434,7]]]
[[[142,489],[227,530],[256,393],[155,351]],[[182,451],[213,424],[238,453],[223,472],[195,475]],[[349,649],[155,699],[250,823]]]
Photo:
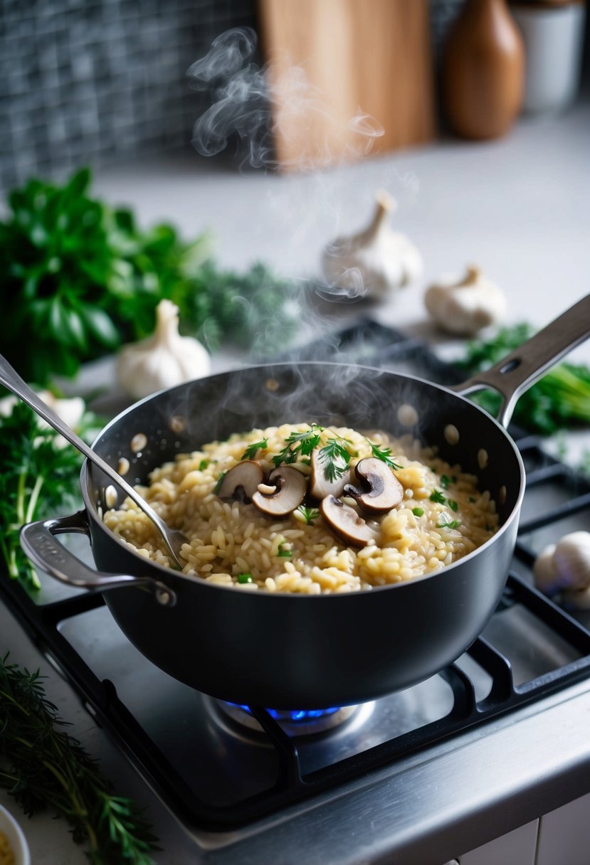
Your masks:
[[[107,477],[110,477],[112,483],[117,484],[119,490],[123,490],[125,496],[130,497],[131,500],[144,511],[145,516],[148,516],[151,519],[151,522],[153,522],[159,533],[162,535],[166,548],[172,556],[172,559],[176,562],[176,565],[182,569],[183,563],[180,560],[180,550],[183,543],[187,542],[183,533],[178,531],[178,529],[170,529],[170,526],[166,525],[162,517],[157,516],[156,511],[151,509],[150,505],[144,501],[137,490],[134,490],[130,484],[127,484],[127,482],[119,475],[119,472],[115,471],[112,466],[108,465],[102,457],[99,457],[98,453],[93,452],[86,442],[82,441],[80,436],[76,435],[74,430],[67,426],[67,424],[65,424],[63,420],[61,420],[61,418],[58,417],[58,415],[49,408],[39,396],[37,396],[37,394],[35,394],[34,390],[29,388],[29,385],[22,380],[20,375],[18,375],[16,369],[11,367],[10,363],[2,355],[0,355],[0,382],[6,388],[11,390],[13,394],[20,397],[23,402],[26,402],[27,405],[39,415],[39,417],[43,420],[47,420],[49,426],[53,426],[53,428],[59,432],[64,439],[67,439],[70,445],[74,445],[74,447],[83,453],[91,463],[96,465],[100,471],[103,471]]]

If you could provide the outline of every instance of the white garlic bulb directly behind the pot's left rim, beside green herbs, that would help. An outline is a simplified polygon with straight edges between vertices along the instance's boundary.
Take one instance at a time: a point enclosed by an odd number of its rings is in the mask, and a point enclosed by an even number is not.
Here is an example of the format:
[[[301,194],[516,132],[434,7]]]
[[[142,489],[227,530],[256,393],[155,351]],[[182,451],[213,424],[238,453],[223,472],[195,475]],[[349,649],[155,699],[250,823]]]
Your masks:
[[[152,336],[121,349],[117,378],[126,394],[140,399],[183,381],[202,378],[210,369],[208,352],[202,344],[178,333],[178,307],[170,300],[161,300]]]

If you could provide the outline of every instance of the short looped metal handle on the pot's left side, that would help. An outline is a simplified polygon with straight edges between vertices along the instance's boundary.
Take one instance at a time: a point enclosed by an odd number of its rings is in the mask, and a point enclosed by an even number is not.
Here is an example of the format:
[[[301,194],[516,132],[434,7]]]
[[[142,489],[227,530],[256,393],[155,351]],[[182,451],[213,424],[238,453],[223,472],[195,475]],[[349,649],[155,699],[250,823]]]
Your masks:
[[[55,535],[68,532],[90,536],[86,511],[80,510],[70,516],[59,516],[38,522],[29,522],[21,529],[21,546],[33,562],[55,580],[67,586],[106,592],[122,586],[138,586],[151,592],[158,604],[174,606],[176,593],[151,577],[135,577],[128,573],[106,573],[88,567],[77,556],[70,553]]]

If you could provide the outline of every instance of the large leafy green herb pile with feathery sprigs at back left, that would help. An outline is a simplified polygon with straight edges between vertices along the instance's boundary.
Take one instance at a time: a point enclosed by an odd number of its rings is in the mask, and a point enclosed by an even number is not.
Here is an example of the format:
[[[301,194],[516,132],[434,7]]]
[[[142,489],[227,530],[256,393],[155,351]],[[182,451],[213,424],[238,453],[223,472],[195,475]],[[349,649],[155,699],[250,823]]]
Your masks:
[[[91,197],[90,183],[88,169],[63,185],[30,180],[0,221],[0,344],[26,381],[75,375],[146,336],[163,298],[179,307],[183,332],[212,350],[229,340],[264,354],[291,338],[292,285],[261,264],[221,270],[208,234],[144,230],[131,210]]]

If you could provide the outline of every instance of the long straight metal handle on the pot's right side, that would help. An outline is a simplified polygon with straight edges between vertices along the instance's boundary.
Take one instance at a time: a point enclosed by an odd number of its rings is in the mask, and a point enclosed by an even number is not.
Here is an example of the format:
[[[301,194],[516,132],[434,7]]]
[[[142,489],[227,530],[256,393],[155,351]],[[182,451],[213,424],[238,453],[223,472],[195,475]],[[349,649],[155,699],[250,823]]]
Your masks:
[[[450,390],[471,394],[493,388],[502,395],[497,420],[506,427],[519,397],[564,355],[590,336],[590,294],[490,369],[476,373]]]

